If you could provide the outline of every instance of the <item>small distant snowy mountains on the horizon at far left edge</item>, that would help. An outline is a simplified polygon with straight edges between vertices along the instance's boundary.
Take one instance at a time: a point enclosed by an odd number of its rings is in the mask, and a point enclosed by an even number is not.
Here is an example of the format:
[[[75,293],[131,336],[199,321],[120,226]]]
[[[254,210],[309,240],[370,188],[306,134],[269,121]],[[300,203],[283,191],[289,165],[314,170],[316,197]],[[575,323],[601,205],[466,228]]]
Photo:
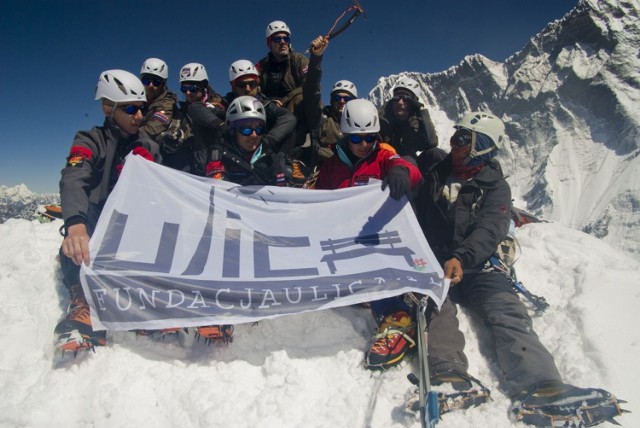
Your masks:
[[[34,193],[24,184],[13,187],[0,185],[0,223],[10,218],[33,218],[40,205],[59,202],[57,193]]]

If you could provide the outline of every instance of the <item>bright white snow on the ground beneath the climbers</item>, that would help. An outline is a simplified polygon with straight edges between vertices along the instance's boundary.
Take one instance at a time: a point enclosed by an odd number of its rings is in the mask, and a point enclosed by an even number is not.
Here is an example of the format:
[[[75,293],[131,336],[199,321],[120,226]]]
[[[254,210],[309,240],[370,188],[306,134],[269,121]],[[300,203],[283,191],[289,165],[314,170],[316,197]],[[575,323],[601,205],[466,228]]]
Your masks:
[[[95,353],[61,358],[53,347],[68,302],[57,271],[60,225],[0,224],[1,427],[420,426],[403,410],[417,360],[366,370],[374,324],[360,307],[237,325],[229,346],[111,332]],[[551,304],[535,329],[565,381],[627,400],[633,413],[618,421],[640,426],[640,262],[559,224],[526,225],[516,236],[519,278]],[[493,401],[439,426],[524,426],[508,418],[486,331],[459,317],[470,373]]]

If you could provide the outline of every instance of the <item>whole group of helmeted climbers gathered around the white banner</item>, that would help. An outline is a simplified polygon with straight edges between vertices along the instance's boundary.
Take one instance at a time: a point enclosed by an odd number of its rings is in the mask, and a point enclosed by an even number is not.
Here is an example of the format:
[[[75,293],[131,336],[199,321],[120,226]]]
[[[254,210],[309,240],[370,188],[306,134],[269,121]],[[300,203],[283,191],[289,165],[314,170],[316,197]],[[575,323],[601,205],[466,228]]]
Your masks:
[[[329,40],[314,39],[308,59],[292,50],[287,24],[274,21],[266,42],[269,52],[255,65],[246,59],[230,65],[225,96],[211,88],[200,63],[180,69],[180,102],[168,89],[168,66],[160,59],[144,61],[139,77],[124,70],[100,74],[95,98],[104,123],[76,135],[60,181],[60,255],[71,299],[55,329],[60,348],[106,343],[105,332],[91,328],[79,269],[90,263],[89,238],[125,157],[133,153],[241,185],[339,189],[381,180],[391,198],[412,200],[422,232],[451,281],[443,306],[427,308],[434,385],[449,384],[456,391],[474,386],[456,318],[460,304],[491,333],[504,390],[520,408],[544,405],[551,412],[558,402],[587,394],[604,400],[606,391],[563,383],[526,307],[488,262],[510,221],[510,188],[495,158],[507,139],[503,122],[490,113],[465,114],[456,121],[447,153],[438,147],[416,80],[399,78],[380,108],[358,98],[351,80],[339,80],[323,106],[321,63]],[[416,349],[411,305],[399,296],[370,306],[379,329],[365,366],[387,369]],[[196,334],[228,342],[233,326],[203,326]]]

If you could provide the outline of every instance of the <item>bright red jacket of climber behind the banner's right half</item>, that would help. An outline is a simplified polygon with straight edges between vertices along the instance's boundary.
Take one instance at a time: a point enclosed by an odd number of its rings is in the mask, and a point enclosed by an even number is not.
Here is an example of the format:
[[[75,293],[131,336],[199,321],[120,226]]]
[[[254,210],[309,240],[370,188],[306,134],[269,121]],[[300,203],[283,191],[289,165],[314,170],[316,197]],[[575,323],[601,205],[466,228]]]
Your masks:
[[[336,149],[345,150],[342,147],[336,147]],[[409,170],[412,188],[422,180],[422,174],[415,165],[402,159],[394,151],[381,147],[380,144],[377,144],[373,152],[359,159],[353,166],[347,165],[341,159],[342,157],[336,154],[324,161],[318,174],[316,189],[362,186],[367,184],[370,178],[382,180],[394,166],[402,166]]]

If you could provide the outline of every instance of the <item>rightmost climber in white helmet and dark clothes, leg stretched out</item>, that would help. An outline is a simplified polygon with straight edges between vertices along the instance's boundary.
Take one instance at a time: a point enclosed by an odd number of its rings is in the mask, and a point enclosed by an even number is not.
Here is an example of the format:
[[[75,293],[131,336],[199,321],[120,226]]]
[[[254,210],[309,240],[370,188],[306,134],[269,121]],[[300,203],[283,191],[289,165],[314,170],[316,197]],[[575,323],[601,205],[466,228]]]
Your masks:
[[[449,155],[431,171],[422,171],[425,180],[414,200],[416,215],[445,278],[451,279],[449,297],[474,311],[491,334],[516,419],[560,426],[553,421],[564,423],[582,406],[593,406],[586,410],[595,418],[591,426],[620,414],[613,410],[615,397],[607,391],[562,381],[510,278],[491,262],[511,219],[511,190],[494,159],[506,140],[503,122],[474,112],[464,115],[455,129]],[[459,334],[457,324],[432,325],[429,348]],[[464,341],[448,344],[464,355]],[[576,419],[568,421],[572,422]]]

